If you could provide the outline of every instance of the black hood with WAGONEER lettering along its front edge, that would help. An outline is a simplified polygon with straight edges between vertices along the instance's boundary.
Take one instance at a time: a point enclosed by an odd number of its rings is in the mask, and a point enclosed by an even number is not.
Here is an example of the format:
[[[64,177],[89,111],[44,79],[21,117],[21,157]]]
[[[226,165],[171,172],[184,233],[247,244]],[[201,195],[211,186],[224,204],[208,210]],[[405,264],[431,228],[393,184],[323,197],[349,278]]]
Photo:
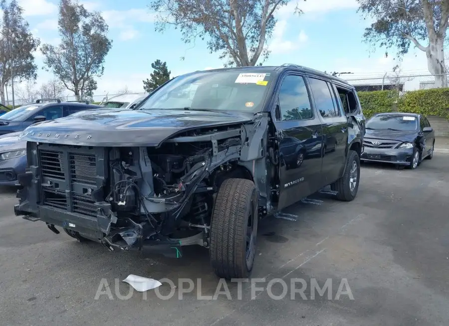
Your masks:
[[[20,140],[80,146],[158,146],[191,129],[249,122],[252,112],[89,110],[26,128]]]

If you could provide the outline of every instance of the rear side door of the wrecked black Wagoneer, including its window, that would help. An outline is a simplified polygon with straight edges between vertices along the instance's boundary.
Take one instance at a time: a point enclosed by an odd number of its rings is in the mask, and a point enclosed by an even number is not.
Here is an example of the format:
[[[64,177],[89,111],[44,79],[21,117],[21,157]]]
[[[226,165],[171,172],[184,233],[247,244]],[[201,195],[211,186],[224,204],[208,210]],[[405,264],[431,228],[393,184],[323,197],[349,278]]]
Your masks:
[[[314,77],[308,77],[308,82],[323,126],[321,184],[325,185],[336,181],[343,174],[348,144],[348,119],[342,112],[341,105],[338,105],[341,101],[332,84]]]

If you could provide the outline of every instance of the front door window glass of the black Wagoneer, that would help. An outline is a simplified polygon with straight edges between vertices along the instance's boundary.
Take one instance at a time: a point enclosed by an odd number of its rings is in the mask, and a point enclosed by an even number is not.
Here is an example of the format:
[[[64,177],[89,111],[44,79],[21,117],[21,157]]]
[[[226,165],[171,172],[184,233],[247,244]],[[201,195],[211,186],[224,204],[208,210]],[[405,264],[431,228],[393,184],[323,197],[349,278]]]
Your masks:
[[[304,78],[289,75],[284,78],[279,89],[279,109],[282,120],[312,119],[312,107]]]

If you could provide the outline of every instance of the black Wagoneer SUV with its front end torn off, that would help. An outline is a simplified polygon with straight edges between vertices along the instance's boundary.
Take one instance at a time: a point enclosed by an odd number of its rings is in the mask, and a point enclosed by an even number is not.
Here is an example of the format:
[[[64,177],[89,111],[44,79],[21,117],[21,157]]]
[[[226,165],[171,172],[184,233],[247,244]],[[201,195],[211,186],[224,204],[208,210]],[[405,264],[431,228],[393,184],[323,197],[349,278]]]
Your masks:
[[[260,218],[329,184],[355,198],[364,121],[354,87],[313,69],[189,73],[134,110],[29,127],[15,214],[110,250],[198,244],[247,277]]]

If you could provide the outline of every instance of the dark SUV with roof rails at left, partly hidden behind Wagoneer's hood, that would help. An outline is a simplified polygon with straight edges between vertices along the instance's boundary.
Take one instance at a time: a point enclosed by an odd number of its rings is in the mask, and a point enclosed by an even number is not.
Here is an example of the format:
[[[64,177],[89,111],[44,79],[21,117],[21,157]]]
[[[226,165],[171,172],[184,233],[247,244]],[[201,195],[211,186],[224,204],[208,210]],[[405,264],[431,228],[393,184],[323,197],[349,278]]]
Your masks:
[[[48,101],[50,101],[48,103]],[[47,103],[45,103],[47,102]],[[61,102],[59,99],[40,99],[22,105],[0,116],[0,135],[23,131],[33,123],[53,120],[87,109],[98,109],[99,105],[86,102]]]

